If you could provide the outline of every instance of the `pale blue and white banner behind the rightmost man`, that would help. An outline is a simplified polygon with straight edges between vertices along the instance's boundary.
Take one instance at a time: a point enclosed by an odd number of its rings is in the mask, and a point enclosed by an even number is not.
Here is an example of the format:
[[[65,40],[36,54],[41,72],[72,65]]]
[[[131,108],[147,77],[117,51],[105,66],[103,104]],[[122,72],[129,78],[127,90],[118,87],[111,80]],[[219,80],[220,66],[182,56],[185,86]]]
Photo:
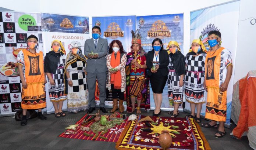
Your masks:
[[[218,30],[221,32],[221,47],[225,47],[231,52],[233,74],[231,76],[227,90],[227,124],[230,124],[231,100],[234,83],[234,68],[237,50],[236,43],[238,33],[239,3],[240,1],[235,1],[219,6],[193,11],[190,13],[190,43],[193,41],[193,39],[200,39],[203,41],[206,49],[209,50],[209,45],[207,41],[208,33],[211,30]],[[206,94],[205,98],[207,98]],[[188,102],[186,102],[185,110],[191,110]],[[202,116],[205,116],[205,111],[206,103],[203,104],[201,110]]]

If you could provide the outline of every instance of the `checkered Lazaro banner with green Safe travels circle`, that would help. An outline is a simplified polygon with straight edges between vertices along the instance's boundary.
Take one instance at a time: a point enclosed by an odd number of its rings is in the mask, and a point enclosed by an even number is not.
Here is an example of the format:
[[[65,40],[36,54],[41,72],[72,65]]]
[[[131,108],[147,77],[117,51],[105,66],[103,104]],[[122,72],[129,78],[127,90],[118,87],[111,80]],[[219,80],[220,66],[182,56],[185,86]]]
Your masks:
[[[43,51],[40,14],[0,12],[0,116],[14,115],[21,109],[21,80],[17,55],[26,48],[31,34],[39,39]]]

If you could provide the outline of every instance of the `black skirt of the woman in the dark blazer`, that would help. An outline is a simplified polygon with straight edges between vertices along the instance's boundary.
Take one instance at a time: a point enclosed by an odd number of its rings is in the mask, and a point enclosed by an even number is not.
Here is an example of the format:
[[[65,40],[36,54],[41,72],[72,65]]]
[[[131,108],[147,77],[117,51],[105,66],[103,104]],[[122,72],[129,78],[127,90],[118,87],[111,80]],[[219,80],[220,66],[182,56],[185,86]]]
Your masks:
[[[157,94],[163,93],[164,86],[166,85],[167,76],[163,76],[161,72],[152,73],[149,77],[152,91]]]

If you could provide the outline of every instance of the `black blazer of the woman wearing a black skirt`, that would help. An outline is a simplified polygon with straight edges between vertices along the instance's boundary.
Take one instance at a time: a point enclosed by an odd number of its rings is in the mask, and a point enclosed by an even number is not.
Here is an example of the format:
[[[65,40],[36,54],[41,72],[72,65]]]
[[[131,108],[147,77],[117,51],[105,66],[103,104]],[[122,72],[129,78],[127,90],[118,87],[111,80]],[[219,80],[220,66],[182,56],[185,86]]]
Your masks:
[[[149,76],[152,75],[152,72],[150,71],[150,69],[153,66],[153,63],[152,63],[153,59],[154,59],[154,50],[149,51],[146,57],[146,60],[147,60],[146,65],[147,65],[147,68],[149,69],[149,73],[148,73]],[[161,72],[163,76],[167,76],[169,63],[170,63],[170,59],[169,59],[168,52],[166,50],[160,50],[159,69],[157,70],[157,72]]]

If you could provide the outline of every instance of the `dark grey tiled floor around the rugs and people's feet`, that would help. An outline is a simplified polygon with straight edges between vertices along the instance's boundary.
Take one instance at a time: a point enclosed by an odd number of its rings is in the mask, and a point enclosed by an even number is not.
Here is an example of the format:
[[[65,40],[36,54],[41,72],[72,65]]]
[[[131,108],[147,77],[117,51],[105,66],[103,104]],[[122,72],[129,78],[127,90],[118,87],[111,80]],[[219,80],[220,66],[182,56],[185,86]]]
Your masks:
[[[94,112],[96,113],[96,111]],[[114,150],[115,143],[91,140],[78,140],[59,138],[65,127],[75,124],[85,112],[77,114],[67,113],[66,117],[56,118],[54,114],[46,115],[47,120],[38,118],[28,120],[26,126],[21,126],[14,117],[0,118],[0,150]],[[152,116],[152,111],[142,115]],[[185,117],[187,113],[179,113]],[[170,116],[167,111],[162,111],[160,116]],[[202,120],[202,122],[207,122]],[[203,133],[213,150],[252,150],[247,137],[241,140],[231,138],[230,129],[225,129],[227,135],[215,138],[216,129],[202,128]]]

